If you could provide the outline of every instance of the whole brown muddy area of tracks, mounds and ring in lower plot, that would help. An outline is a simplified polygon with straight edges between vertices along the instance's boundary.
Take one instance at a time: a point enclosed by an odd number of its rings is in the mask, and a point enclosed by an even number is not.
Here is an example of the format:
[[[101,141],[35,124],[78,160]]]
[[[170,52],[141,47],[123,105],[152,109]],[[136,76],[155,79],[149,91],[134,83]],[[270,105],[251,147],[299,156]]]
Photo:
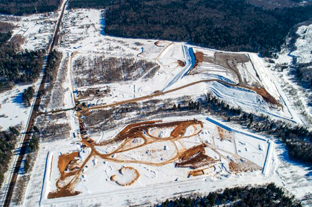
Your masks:
[[[78,119],[80,122],[80,131],[84,130],[84,124],[81,118]],[[189,128],[191,127],[191,128]],[[96,143],[87,134],[81,135],[81,146],[85,149],[89,149],[89,155],[84,159],[77,159],[78,152],[71,154],[64,154],[59,156],[58,168],[61,176],[56,182],[57,191],[50,192],[48,195],[49,199],[60,198],[67,196],[76,196],[79,192],[75,191],[75,186],[80,182],[80,177],[82,175],[82,169],[85,167],[86,163],[92,158],[97,157],[105,161],[125,163],[125,164],[146,164],[150,166],[162,166],[168,163],[175,163],[176,167],[186,167],[191,170],[188,176],[199,176],[203,174],[209,174],[214,172],[220,162],[221,157],[229,161],[230,172],[240,172],[240,171],[250,171],[259,170],[261,167],[252,163],[249,160],[244,160],[243,162],[234,162],[228,157],[218,153],[216,148],[211,144],[200,144],[187,149],[183,146],[181,139],[188,139],[190,137],[196,136],[202,132],[203,123],[199,120],[186,120],[186,121],[174,121],[163,123],[161,120],[157,121],[145,121],[139,123],[133,123],[127,125],[122,129],[114,138],[107,140],[105,142]],[[150,133],[154,130],[152,136]],[[156,133],[155,133],[156,130]],[[157,136],[158,132],[161,130],[166,131],[166,136]],[[219,129],[219,134],[223,136],[223,139],[228,139],[226,135],[227,132]],[[170,150],[161,149],[153,147],[153,145],[161,142],[172,143]],[[182,147],[178,148],[177,143],[180,143]],[[107,154],[102,154],[98,152],[96,147],[99,146],[118,146],[112,148]],[[159,160],[159,156],[143,156],[142,149],[148,149],[150,154],[157,154],[159,151],[161,153],[169,152],[169,156],[162,161]],[[206,155],[205,148],[209,147],[213,150],[220,158],[213,158]],[[162,147],[163,148],[163,147]],[[143,154],[147,150],[143,150]],[[122,156],[123,153],[129,153]],[[129,157],[129,155],[142,155],[140,159]],[[121,155],[121,156],[120,156]],[[240,160],[238,155],[232,155],[235,160]],[[134,156],[136,157],[136,156]],[[220,164],[220,163],[219,163]],[[110,181],[119,186],[129,186],[134,184],[140,177],[140,173],[137,169],[132,166],[124,166],[119,169],[118,173],[112,174],[110,176]]]

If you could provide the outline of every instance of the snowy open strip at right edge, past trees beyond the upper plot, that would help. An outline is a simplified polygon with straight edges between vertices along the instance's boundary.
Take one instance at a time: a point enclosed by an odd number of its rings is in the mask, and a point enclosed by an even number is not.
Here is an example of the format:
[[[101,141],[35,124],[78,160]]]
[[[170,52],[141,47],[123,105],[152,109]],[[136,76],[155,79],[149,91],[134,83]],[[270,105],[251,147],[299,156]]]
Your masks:
[[[278,58],[274,59],[274,63],[268,62],[266,64],[273,70],[272,73],[277,82],[276,86],[284,94],[284,102],[291,105],[289,109],[294,111],[293,114],[298,114],[298,118],[301,119],[299,123],[309,126],[312,123],[312,108],[309,100],[311,91],[297,84],[294,80],[296,77],[290,75],[289,67],[292,67],[295,59],[297,63],[312,62],[312,24],[300,26],[297,35],[298,39],[294,44],[294,51],[285,48],[278,53]],[[289,44],[289,40],[287,44]],[[282,66],[285,69],[281,71],[279,68]]]

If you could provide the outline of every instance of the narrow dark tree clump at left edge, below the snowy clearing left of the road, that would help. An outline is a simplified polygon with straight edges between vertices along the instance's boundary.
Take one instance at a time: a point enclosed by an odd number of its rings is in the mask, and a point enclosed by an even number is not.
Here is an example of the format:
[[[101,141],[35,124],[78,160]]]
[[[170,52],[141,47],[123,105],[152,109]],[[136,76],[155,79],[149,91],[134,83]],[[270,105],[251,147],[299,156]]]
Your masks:
[[[0,186],[3,182],[4,173],[8,168],[8,162],[12,156],[12,150],[18,135],[19,132],[15,127],[9,127],[7,131],[0,131]]]

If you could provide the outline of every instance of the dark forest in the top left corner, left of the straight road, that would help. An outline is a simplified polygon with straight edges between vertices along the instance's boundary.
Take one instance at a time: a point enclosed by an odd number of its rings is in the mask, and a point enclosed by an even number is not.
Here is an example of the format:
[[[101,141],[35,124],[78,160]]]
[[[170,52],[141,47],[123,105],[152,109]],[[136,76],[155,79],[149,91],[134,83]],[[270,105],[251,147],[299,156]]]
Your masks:
[[[25,15],[56,10],[62,0],[0,0],[0,13]]]

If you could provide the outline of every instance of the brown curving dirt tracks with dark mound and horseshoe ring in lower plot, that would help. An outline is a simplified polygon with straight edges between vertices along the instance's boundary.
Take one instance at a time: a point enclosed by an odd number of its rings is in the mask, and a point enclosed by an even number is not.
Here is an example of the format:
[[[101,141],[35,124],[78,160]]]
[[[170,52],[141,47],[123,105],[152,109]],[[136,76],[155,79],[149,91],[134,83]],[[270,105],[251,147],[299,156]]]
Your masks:
[[[80,127],[83,127],[83,124],[80,124]],[[151,136],[149,131],[153,128],[164,128],[164,127],[172,127],[172,131],[170,132],[170,136],[165,138],[159,138],[155,136]],[[185,135],[185,132],[188,127],[193,127],[196,129],[190,135]],[[74,191],[76,184],[80,180],[80,175],[82,169],[86,165],[86,163],[90,160],[91,157],[99,157],[101,159],[112,161],[112,162],[120,162],[120,163],[141,163],[141,164],[148,164],[153,166],[161,166],[167,163],[172,163],[176,160],[181,159],[181,166],[183,163],[186,165],[192,165],[196,168],[196,163],[198,166],[203,166],[205,164],[211,163],[211,157],[204,155],[204,147],[206,145],[200,145],[198,147],[194,147],[192,149],[178,149],[174,143],[179,139],[190,138],[193,136],[198,135],[203,127],[203,123],[198,120],[187,120],[187,121],[176,121],[176,122],[169,122],[169,123],[162,123],[162,121],[146,121],[140,122],[135,124],[130,124],[126,126],[122,131],[120,131],[114,138],[111,140],[107,140],[105,142],[95,143],[92,139],[88,137],[82,137],[81,143],[84,148],[89,148],[91,150],[90,154],[87,156],[82,163],[78,163],[78,160],[75,157],[78,156],[78,152],[74,152],[69,155],[60,155],[59,156],[59,171],[61,176],[57,180],[56,187],[57,191],[50,192],[48,198],[60,198],[60,197],[67,197],[67,196],[75,196],[79,192]],[[83,130],[83,129],[81,129]],[[129,143],[132,143],[134,139],[143,139],[144,142],[137,146],[132,146]],[[136,149],[142,148],[147,145],[153,145],[154,143],[169,141],[173,143],[175,147],[175,155],[169,157],[167,160],[164,160],[160,163],[155,162],[153,160],[135,160],[135,159],[120,159],[118,158],[118,154],[132,151],[136,152]],[[108,153],[108,154],[101,154],[96,150],[98,146],[111,146],[120,144],[117,149]],[[208,162],[209,160],[209,162]],[[132,168],[132,167],[130,167]],[[134,168],[133,168],[134,169]],[[135,172],[136,169],[134,169]],[[135,173],[136,177],[130,183],[133,184],[139,177],[139,172]],[[122,183],[118,183],[116,181],[116,177],[112,176],[111,180],[116,182],[119,185],[123,185]],[[125,185],[130,185],[130,183],[126,183]]]

